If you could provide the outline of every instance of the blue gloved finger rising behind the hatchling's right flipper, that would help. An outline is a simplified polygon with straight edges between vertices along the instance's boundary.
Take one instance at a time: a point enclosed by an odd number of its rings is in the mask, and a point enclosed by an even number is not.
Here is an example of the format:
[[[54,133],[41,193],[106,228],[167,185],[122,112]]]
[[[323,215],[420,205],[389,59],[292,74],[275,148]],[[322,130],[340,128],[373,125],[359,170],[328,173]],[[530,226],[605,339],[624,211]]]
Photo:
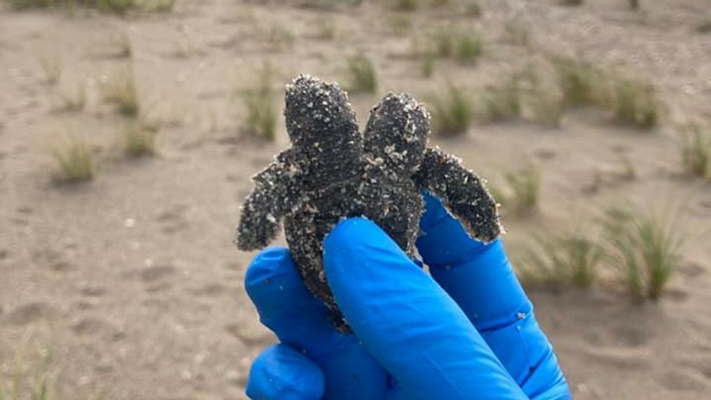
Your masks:
[[[417,248],[432,277],[469,320],[528,396],[565,387],[552,346],[516,279],[501,239],[471,239],[437,198],[425,195]]]

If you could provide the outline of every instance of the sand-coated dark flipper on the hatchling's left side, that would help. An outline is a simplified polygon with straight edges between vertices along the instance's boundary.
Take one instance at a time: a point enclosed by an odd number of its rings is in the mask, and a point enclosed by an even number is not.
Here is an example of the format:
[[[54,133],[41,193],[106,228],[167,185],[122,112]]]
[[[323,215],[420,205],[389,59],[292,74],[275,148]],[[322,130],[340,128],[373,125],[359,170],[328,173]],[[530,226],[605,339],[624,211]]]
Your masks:
[[[292,150],[279,156],[252,178],[255,188],[242,205],[235,244],[242,250],[267,246],[279,233],[284,215],[304,201],[301,168],[294,162]]]

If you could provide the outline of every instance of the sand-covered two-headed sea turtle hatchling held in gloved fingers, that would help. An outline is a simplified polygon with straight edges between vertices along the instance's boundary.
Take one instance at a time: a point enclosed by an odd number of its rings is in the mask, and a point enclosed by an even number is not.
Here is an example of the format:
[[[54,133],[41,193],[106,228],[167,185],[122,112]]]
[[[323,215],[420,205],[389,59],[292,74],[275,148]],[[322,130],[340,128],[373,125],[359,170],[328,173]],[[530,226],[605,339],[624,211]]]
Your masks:
[[[427,148],[429,114],[408,94],[387,94],[360,134],[355,112],[338,84],[300,75],[287,86],[287,131],[292,147],[253,178],[242,205],[235,244],[267,246],[284,233],[304,283],[348,325],[324,276],[323,241],[347,217],[373,220],[410,257],[420,234],[422,192],[442,200],[476,239],[501,234],[496,202],[458,158]]]

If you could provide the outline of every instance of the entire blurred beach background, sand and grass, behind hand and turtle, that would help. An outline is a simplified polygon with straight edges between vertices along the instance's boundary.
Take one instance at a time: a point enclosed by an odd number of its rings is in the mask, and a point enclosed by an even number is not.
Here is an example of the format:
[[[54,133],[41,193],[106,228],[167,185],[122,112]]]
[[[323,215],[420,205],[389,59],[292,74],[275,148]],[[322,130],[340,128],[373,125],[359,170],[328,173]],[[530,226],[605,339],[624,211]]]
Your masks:
[[[427,105],[577,399],[711,397],[708,0],[0,0],[0,399],[245,399],[299,73]]]

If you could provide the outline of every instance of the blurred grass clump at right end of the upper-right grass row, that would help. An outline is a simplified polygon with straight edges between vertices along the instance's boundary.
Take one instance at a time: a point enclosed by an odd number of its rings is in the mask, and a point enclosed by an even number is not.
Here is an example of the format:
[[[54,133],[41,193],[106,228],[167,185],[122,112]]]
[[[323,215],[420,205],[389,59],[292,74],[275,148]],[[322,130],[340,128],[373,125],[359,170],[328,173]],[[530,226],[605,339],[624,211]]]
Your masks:
[[[628,77],[611,78],[611,108],[620,124],[651,129],[658,123],[660,105],[654,87]]]

